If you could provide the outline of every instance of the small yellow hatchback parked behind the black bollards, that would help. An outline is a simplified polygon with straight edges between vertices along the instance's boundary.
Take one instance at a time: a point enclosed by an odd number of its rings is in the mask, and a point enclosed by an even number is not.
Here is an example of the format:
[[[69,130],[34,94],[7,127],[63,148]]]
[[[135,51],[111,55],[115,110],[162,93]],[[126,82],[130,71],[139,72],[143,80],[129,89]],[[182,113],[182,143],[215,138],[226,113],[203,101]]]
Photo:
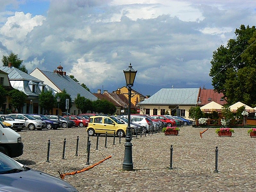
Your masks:
[[[95,134],[114,134],[117,136],[126,136],[127,125],[120,122],[118,119],[108,116],[91,116],[90,122],[87,127],[87,133],[89,136]]]

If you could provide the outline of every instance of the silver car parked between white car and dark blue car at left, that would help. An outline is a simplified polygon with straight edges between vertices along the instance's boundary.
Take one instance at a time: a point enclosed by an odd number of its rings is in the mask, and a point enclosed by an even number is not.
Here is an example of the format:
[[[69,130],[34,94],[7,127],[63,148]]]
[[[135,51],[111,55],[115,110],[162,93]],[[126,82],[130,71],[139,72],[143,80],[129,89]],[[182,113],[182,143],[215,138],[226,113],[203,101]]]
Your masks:
[[[37,120],[30,115],[21,113],[13,113],[9,115],[15,120],[25,123],[25,128],[29,128],[30,130],[34,130],[35,128],[37,130],[42,130],[43,128],[46,128],[46,123],[44,121]]]

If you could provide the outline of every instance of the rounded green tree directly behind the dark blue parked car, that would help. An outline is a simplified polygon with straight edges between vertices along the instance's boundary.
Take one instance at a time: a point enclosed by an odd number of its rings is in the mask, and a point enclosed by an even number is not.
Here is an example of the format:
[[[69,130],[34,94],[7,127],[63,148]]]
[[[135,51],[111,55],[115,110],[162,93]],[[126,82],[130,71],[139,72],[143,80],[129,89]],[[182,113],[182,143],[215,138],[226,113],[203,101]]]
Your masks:
[[[53,105],[53,103],[55,103],[53,92],[42,91],[42,93],[39,95],[39,106],[45,109],[49,113],[50,110],[55,106]]]

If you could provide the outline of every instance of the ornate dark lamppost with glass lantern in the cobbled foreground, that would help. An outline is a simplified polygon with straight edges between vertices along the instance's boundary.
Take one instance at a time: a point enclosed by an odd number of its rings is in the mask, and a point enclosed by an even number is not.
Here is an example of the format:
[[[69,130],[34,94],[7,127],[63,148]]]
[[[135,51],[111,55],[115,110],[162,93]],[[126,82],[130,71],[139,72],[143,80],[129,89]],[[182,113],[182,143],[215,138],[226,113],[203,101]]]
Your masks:
[[[135,71],[131,64],[124,70],[126,77],[126,86],[128,88],[128,126],[126,131],[126,143],[125,143],[125,157],[123,162],[123,170],[133,170],[132,163],[132,144],[131,144],[131,131],[130,131],[130,98],[131,98],[131,87],[133,86],[137,71]]]

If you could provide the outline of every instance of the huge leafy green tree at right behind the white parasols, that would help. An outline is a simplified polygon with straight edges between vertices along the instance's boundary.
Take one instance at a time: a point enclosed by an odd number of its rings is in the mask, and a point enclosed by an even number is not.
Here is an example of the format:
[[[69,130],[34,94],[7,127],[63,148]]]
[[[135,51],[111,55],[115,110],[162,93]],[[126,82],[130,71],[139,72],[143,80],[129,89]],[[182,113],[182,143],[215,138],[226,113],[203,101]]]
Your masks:
[[[256,104],[256,28],[253,26],[235,30],[236,39],[229,39],[213,52],[209,75],[218,93],[223,93],[227,103],[241,101]]]

